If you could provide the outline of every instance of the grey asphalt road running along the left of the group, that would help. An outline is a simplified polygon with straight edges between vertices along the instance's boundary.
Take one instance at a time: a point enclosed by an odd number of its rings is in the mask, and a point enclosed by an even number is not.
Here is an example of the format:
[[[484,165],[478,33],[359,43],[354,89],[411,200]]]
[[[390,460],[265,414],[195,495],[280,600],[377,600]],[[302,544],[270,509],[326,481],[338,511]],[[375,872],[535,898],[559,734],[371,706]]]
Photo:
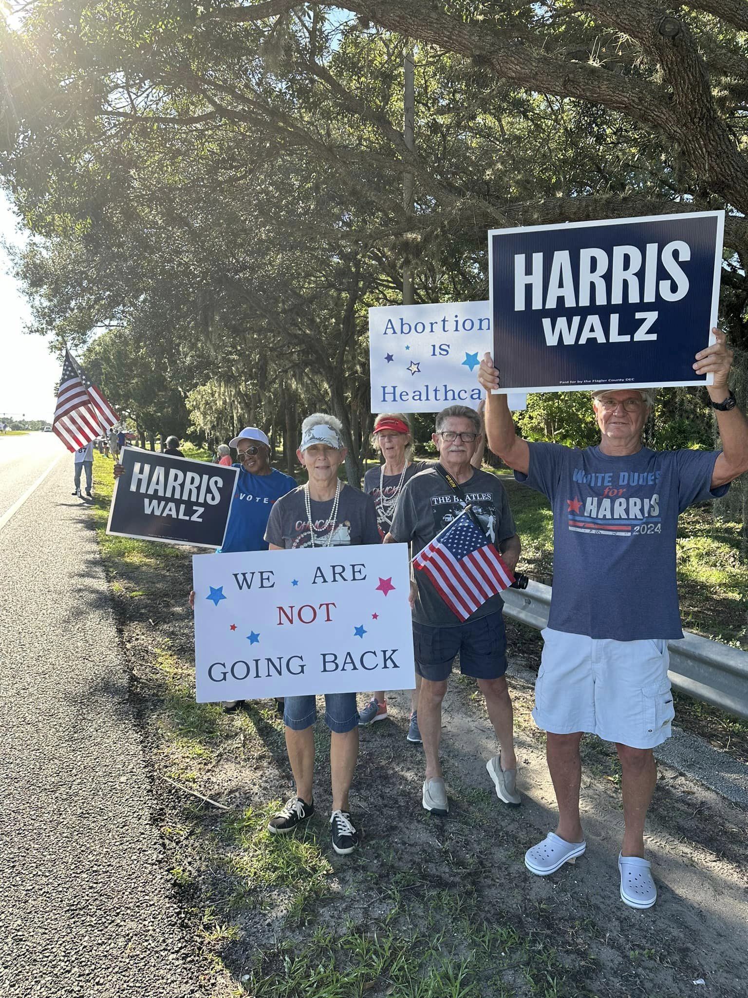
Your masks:
[[[49,437],[0,438],[0,523]],[[72,466],[0,527],[0,995],[197,996]]]

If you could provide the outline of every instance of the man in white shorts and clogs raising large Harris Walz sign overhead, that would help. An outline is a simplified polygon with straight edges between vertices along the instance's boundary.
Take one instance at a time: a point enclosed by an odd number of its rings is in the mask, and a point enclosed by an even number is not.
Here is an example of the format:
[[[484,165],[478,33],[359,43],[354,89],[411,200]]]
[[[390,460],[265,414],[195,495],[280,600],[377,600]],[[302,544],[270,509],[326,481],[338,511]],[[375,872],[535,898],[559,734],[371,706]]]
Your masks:
[[[583,733],[614,742],[621,764],[625,830],[618,856],[620,896],[648,908],[657,896],[644,859],[644,818],[656,780],[652,749],[670,735],[667,642],[683,637],[675,582],[678,514],[724,495],[748,470],[748,422],[727,387],[732,351],[715,341],[696,354],[713,374],[709,398],[723,450],[653,451],[641,431],[654,393],[635,387],[592,392],[600,442],[584,449],[528,443],[515,433],[499,371],[489,354],[479,380],[488,392],[491,449],[520,482],[548,496],[554,511],[554,591],[533,717],[548,734],[559,804],[555,832],[525,863],[545,876],[584,851],[579,822]]]

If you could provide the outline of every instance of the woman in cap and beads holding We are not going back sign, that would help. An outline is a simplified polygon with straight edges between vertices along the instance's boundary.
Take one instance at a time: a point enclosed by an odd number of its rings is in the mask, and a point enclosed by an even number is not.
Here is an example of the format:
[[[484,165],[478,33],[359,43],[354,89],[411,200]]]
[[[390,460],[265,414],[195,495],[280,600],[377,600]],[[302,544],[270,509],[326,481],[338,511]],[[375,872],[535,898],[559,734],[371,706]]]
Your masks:
[[[273,506],[265,532],[270,551],[380,543],[374,500],[338,478],[345,454],[338,419],[317,412],[304,420],[296,455],[306,468],[309,481],[282,496]],[[285,744],[296,793],[270,819],[267,830],[272,834],[292,831],[314,813],[316,717],[313,696],[285,698]],[[325,722],[330,729],[332,847],[340,855],[346,855],[358,845],[358,832],[348,804],[358,758],[355,693],[326,694]]]

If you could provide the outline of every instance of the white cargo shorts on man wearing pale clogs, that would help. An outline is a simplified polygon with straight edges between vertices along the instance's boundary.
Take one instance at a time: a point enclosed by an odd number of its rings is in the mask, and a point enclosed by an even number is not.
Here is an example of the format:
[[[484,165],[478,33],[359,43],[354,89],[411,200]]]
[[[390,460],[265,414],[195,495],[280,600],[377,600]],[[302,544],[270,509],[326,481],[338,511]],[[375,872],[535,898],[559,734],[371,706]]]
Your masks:
[[[588,732],[631,749],[670,737],[666,641],[612,641],[546,628],[533,718],[555,735]]]

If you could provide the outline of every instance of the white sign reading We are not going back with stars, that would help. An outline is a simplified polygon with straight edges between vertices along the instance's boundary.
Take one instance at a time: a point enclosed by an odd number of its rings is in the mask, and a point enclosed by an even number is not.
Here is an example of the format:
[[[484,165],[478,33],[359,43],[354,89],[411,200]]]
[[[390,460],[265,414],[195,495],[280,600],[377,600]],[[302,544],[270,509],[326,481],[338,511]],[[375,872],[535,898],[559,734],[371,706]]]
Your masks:
[[[406,544],[195,555],[197,702],[415,688]]]

